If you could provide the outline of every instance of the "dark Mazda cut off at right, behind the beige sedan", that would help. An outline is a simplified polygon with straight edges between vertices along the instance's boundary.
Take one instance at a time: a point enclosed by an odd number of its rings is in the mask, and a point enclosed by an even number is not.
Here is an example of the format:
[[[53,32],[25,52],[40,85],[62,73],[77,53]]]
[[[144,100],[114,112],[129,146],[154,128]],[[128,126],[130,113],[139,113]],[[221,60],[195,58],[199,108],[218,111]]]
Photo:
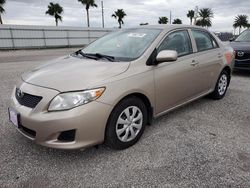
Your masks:
[[[235,51],[235,69],[250,70],[250,29],[241,33],[231,46]]]

